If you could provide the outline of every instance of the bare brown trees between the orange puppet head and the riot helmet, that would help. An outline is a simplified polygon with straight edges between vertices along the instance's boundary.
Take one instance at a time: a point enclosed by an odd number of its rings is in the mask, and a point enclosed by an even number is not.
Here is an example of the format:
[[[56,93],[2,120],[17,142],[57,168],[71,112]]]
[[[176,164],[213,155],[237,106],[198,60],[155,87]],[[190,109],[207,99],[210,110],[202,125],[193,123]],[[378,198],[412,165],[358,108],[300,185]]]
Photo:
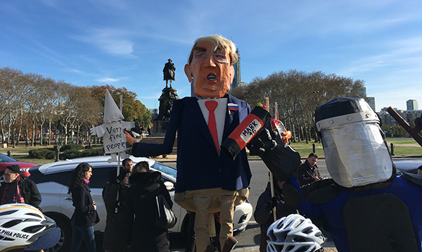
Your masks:
[[[322,72],[288,70],[272,73],[266,78],[256,77],[249,84],[236,87],[231,93],[251,105],[269,97],[271,103],[277,103],[279,120],[292,131],[293,141],[295,137],[298,140],[306,138],[308,141],[312,131],[315,133],[316,106],[339,96],[358,96],[363,88],[362,80]]]

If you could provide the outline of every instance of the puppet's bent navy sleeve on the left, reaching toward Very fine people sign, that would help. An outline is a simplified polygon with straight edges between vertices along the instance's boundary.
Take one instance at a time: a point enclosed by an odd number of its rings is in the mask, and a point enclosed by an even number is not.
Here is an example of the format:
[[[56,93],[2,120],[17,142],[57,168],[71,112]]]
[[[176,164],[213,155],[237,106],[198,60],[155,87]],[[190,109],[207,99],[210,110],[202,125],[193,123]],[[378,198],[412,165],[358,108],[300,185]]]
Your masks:
[[[174,139],[176,138],[177,128],[179,127],[181,117],[181,101],[174,100],[170,121],[165,132],[164,142],[162,144],[135,143],[132,147],[132,155],[136,157],[159,156],[169,154],[173,150]]]

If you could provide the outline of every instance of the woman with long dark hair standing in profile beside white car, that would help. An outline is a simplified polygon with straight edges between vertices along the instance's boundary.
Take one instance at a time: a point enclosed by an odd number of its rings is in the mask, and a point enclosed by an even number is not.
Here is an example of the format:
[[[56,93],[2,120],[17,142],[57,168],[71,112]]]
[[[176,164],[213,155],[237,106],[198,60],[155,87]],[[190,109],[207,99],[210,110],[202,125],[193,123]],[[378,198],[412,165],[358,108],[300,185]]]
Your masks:
[[[84,239],[88,252],[95,252],[94,225],[100,221],[96,212],[96,204],[92,200],[88,187],[92,176],[92,167],[88,163],[79,163],[72,172],[68,194],[72,194],[75,212],[70,223],[72,225],[72,244],[70,252],[79,251]]]

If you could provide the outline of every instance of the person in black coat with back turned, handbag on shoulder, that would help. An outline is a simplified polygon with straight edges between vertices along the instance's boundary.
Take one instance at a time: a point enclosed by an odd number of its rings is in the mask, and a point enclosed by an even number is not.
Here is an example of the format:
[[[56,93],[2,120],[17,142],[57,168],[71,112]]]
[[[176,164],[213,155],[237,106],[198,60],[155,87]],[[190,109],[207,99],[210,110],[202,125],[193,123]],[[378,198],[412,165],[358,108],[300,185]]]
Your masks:
[[[162,194],[169,206],[173,206],[170,194],[161,180],[161,172],[151,172],[147,162],[136,163],[129,183],[126,223],[132,234],[127,234],[126,237],[132,237],[131,250],[170,252],[167,229],[155,226],[155,196]]]

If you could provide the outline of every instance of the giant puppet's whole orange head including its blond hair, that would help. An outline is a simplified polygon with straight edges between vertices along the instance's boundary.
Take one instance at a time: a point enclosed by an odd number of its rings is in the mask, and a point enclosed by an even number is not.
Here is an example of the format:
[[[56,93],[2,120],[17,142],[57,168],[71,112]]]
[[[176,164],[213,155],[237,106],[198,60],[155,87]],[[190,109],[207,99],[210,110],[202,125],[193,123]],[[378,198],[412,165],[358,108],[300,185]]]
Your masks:
[[[220,98],[226,95],[234,78],[231,64],[237,61],[236,46],[229,39],[217,35],[196,39],[184,68],[196,96]]]

